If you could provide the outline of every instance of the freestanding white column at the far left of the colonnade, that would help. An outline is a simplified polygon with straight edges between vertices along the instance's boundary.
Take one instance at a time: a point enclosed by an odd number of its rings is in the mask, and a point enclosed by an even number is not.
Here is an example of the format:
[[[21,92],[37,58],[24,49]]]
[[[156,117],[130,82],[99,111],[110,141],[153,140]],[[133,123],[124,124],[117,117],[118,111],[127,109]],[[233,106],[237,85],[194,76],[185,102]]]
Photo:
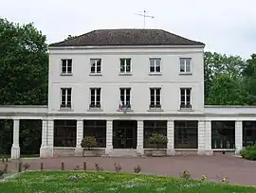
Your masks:
[[[13,143],[11,147],[11,159],[19,159],[20,158],[20,120],[13,119]]]

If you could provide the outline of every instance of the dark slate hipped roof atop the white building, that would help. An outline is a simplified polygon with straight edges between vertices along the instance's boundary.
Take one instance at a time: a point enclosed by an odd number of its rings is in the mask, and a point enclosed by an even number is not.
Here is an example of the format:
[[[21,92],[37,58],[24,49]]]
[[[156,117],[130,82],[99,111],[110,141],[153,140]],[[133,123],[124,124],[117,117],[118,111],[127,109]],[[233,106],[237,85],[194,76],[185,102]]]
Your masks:
[[[162,29],[99,29],[49,46],[204,45]]]

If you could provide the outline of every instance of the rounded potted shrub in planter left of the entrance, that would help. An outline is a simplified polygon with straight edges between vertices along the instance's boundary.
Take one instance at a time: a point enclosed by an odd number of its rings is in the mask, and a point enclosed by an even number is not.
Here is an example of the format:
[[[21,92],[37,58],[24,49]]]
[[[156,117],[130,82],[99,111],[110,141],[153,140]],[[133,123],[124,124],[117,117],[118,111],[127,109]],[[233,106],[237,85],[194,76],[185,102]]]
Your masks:
[[[97,151],[94,149],[97,147],[97,141],[94,136],[85,136],[81,142],[82,147],[82,157],[87,156],[96,156]]]

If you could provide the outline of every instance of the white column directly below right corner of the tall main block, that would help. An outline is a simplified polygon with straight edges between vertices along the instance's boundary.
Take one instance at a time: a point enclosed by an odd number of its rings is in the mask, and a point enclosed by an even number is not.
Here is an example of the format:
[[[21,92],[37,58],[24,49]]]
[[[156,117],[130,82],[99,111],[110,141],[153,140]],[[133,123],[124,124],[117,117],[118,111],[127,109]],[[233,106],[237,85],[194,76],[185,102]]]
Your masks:
[[[205,152],[205,121],[198,121],[197,128],[197,153],[204,155]]]

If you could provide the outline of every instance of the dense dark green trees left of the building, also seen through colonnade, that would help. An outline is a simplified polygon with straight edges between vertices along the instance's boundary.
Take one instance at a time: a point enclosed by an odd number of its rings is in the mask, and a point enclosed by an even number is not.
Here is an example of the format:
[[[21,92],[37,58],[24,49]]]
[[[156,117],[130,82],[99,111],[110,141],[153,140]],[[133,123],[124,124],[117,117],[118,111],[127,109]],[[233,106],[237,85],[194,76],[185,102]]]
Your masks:
[[[46,36],[33,24],[21,26],[0,18],[0,104],[45,105],[47,68]],[[0,121],[0,130],[5,133],[0,135],[1,151],[8,153],[12,143],[11,123]],[[25,124],[20,134],[30,138],[24,139],[23,149],[31,149],[41,137],[41,122]]]

